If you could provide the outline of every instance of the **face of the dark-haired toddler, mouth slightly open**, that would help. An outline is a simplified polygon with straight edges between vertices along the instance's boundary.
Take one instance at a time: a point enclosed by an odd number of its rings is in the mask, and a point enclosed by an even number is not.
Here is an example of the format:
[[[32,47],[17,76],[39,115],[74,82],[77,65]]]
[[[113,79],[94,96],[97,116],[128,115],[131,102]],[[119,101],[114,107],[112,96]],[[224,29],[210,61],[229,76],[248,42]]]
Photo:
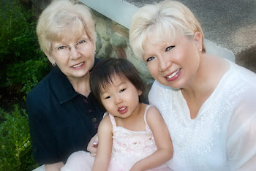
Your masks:
[[[102,90],[100,100],[111,115],[119,118],[128,118],[138,111],[139,96],[141,91],[127,79],[114,76],[112,84]]]

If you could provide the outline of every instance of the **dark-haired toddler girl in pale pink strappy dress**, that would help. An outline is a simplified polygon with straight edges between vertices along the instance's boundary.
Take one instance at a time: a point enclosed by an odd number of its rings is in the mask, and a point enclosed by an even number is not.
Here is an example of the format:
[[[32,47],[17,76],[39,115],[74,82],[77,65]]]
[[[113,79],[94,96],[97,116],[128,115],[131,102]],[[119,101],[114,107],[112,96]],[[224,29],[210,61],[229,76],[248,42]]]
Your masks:
[[[94,66],[91,91],[107,112],[99,123],[97,155],[78,151],[61,170],[170,170],[173,145],[156,107],[142,101],[143,82],[124,58]]]

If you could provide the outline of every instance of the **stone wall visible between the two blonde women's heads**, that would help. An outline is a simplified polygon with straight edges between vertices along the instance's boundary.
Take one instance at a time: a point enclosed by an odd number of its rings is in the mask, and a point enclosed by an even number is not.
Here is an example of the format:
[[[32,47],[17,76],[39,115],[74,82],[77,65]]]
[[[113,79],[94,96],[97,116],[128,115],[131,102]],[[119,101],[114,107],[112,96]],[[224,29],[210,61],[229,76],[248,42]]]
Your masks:
[[[148,72],[144,61],[138,60],[132,52],[129,45],[129,29],[121,26],[99,12],[91,9],[94,15],[95,27],[97,31],[96,53],[98,58],[127,58],[140,73],[141,78],[145,82],[145,94],[151,87],[154,79]]]

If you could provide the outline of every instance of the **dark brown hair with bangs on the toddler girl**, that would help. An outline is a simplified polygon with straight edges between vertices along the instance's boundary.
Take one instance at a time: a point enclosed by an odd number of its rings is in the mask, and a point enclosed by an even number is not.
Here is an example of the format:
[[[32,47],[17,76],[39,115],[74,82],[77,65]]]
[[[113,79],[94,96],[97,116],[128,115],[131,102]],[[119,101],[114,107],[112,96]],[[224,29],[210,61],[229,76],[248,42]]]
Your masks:
[[[122,80],[127,79],[135,88],[144,91],[143,81],[130,61],[124,58],[105,58],[94,66],[90,75],[91,92],[99,107],[104,110],[100,94],[102,88],[105,89],[113,84],[113,76],[119,76]],[[139,101],[143,101],[143,95],[139,96]]]

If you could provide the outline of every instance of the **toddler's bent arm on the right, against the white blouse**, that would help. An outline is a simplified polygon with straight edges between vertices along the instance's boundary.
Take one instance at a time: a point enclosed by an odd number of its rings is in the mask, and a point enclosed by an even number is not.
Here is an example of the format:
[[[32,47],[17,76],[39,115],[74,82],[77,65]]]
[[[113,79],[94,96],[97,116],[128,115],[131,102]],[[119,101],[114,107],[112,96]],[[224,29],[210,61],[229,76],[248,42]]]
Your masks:
[[[146,115],[148,126],[154,134],[154,140],[157,144],[157,151],[136,162],[131,170],[149,170],[165,164],[173,157],[173,144],[170,139],[165,121],[156,107],[150,107]]]

